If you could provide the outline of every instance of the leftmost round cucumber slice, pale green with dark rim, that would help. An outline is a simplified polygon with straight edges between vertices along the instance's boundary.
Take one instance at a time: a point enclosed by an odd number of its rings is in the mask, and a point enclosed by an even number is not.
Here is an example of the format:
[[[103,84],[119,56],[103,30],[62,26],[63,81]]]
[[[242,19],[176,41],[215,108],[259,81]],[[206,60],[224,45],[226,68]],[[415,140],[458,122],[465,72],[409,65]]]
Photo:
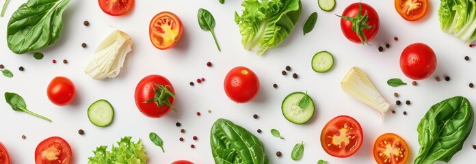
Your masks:
[[[96,126],[108,126],[114,118],[114,108],[107,100],[96,100],[88,108],[88,118]]]

